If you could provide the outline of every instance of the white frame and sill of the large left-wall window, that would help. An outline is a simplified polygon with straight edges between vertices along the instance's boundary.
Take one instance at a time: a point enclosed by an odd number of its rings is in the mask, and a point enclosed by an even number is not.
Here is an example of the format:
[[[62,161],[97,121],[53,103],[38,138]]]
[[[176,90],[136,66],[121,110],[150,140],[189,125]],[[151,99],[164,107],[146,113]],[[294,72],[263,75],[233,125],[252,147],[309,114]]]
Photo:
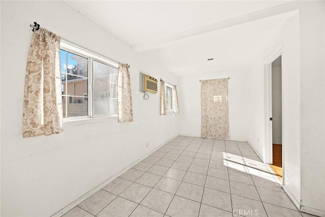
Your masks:
[[[105,56],[102,56],[100,54],[94,53],[92,51],[89,51],[85,48],[82,48],[78,45],[72,44],[70,42],[61,40],[60,42],[60,49],[64,51],[68,51],[70,53],[74,53],[76,55],[80,55],[82,57],[85,57],[88,59],[88,76],[87,76],[87,102],[88,102],[88,114],[87,116],[74,116],[74,117],[66,117],[65,114],[63,114],[63,122],[66,121],[73,121],[73,120],[81,120],[81,119],[93,119],[93,118],[103,118],[103,117],[117,117],[116,114],[104,114],[104,115],[94,115],[93,114],[93,61],[99,61],[103,64],[106,64],[113,68],[118,68],[118,63],[112,59],[109,59]],[[63,82],[62,82],[63,84]],[[83,96],[84,96],[83,94]],[[65,96],[62,96],[65,97]],[[85,103],[85,98],[83,98],[83,101]]]

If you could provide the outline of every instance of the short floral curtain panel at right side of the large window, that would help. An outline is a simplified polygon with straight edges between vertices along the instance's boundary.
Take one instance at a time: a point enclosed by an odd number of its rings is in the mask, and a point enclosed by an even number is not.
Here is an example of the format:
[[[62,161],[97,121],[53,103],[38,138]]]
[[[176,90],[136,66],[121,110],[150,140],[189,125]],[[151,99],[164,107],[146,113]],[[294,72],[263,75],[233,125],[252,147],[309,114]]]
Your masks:
[[[133,107],[131,94],[131,79],[127,64],[118,64],[116,75],[117,121],[132,122]]]

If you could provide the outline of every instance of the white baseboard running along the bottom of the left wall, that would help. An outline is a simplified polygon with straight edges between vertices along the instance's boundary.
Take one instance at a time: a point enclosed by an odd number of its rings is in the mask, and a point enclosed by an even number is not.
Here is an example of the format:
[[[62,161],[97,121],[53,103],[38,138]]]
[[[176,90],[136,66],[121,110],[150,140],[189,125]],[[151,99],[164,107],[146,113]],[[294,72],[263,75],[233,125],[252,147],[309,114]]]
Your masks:
[[[105,187],[105,185],[107,185],[108,183],[110,183],[111,181],[113,181],[118,176],[122,175],[128,169],[134,167],[140,161],[142,161],[145,158],[147,158],[150,154],[152,154],[153,152],[155,152],[156,150],[158,150],[161,146],[166,145],[168,142],[170,142],[171,140],[175,139],[177,136],[172,137],[171,139],[167,140],[163,144],[161,144],[158,147],[154,148],[152,151],[150,151],[149,153],[147,153],[145,156],[143,156],[142,158],[140,158],[136,162],[132,163],[131,165],[129,165],[127,167],[125,167],[123,170],[121,170],[120,172],[116,173],[115,175],[113,175],[112,177],[110,177],[109,179],[107,179],[106,181],[104,181],[103,183],[101,183],[100,185],[98,185],[97,187],[93,188],[92,190],[90,190],[89,192],[87,192],[86,194],[84,194],[83,196],[81,196],[80,198],[78,198],[77,200],[75,200],[74,202],[70,203],[68,206],[62,208],[58,212],[56,212],[53,215],[51,215],[51,217],[60,217],[63,214],[67,213],[68,211],[70,211],[71,209],[73,209],[75,206],[77,206],[79,203],[81,203],[82,201],[84,201],[85,199],[87,199],[88,197],[90,197],[91,195],[93,195],[94,193],[98,192],[100,189],[102,189],[103,187]]]

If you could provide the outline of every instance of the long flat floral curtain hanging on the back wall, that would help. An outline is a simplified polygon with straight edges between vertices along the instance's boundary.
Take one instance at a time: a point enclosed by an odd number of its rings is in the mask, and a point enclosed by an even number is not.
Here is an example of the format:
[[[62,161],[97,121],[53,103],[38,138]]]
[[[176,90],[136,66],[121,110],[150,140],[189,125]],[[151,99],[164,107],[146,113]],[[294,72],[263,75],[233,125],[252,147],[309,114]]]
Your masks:
[[[201,81],[201,136],[229,138],[228,78]]]

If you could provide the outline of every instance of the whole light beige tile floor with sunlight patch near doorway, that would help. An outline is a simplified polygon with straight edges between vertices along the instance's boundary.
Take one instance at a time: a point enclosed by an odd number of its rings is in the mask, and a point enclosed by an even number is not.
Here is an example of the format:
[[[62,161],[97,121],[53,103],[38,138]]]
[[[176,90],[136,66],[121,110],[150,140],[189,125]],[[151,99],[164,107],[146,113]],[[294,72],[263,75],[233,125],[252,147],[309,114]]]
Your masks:
[[[247,142],[178,136],[64,214],[307,216]]]

